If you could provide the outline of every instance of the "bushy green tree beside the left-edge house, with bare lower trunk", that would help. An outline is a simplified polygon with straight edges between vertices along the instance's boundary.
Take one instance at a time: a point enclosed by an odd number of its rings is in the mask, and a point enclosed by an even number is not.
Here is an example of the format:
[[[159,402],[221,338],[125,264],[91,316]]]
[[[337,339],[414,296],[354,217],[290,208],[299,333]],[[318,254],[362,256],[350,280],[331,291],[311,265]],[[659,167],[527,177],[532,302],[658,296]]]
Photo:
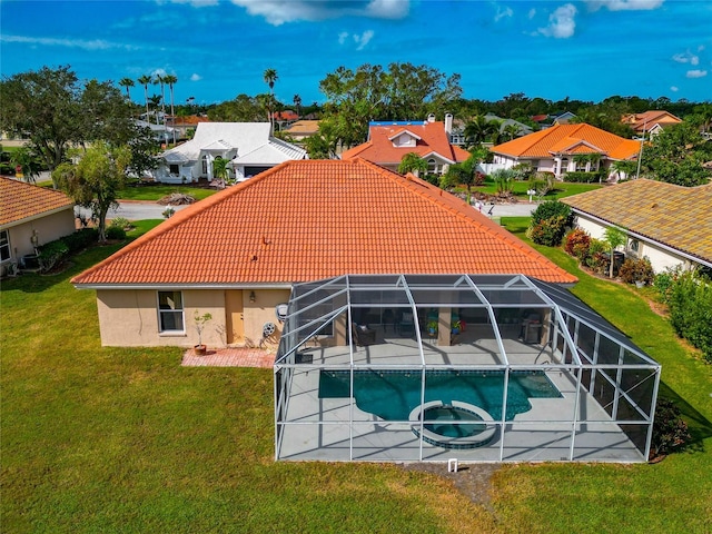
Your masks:
[[[99,141],[77,164],[65,162],[52,172],[60,188],[97,217],[100,243],[106,241],[107,212],[117,206],[117,192],[123,187],[130,159],[128,147],[112,149]]]

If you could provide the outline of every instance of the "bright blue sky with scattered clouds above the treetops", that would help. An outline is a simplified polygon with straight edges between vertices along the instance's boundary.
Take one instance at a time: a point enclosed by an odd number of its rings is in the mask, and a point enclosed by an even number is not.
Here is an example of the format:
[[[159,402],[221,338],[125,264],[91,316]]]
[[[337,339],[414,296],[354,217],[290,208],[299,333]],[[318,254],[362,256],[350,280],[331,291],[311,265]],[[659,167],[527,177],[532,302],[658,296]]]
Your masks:
[[[176,102],[267,92],[267,68],[285,103],[322,102],[337,67],[395,61],[459,73],[465,98],[712,101],[710,0],[0,0],[0,24],[3,76],[165,72]]]

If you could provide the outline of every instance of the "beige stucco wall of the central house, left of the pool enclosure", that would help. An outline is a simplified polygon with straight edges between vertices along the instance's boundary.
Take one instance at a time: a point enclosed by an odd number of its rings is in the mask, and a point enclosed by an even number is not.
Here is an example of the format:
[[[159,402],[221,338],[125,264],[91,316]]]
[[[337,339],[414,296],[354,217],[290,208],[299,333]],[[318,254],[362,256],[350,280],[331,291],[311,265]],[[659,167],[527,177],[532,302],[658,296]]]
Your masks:
[[[243,290],[243,306],[246,343],[259,344],[265,323],[274,323],[277,332],[266,343],[276,346],[281,333],[281,324],[275,315],[275,306],[289,299],[288,289],[256,289],[255,301],[249,299],[249,290]],[[202,330],[202,343],[208,347],[226,346],[225,290],[185,289],[184,323],[180,333],[159,333],[158,294],[155,289],[99,289],[97,308],[101,344],[105,346],[179,346],[192,347],[198,343],[194,315],[209,313],[209,320]]]

